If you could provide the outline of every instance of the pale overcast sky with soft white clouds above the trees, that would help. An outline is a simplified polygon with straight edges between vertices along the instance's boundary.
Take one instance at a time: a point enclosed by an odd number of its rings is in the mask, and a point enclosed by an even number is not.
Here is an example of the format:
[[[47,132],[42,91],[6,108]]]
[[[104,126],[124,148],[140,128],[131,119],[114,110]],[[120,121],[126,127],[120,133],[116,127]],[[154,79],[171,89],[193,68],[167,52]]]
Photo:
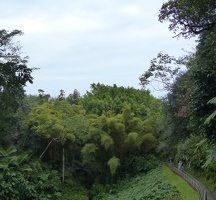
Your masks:
[[[158,22],[165,0],[7,0],[1,2],[0,27],[19,29],[16,38],[39,70],[27,94],[38,89],[55,97],[63,89],[81,95],[92,83],[141,89],[139,77],[162,51],[174,56],[194,41],[172,38]],[[161,96],[150,88],[154,96]]]

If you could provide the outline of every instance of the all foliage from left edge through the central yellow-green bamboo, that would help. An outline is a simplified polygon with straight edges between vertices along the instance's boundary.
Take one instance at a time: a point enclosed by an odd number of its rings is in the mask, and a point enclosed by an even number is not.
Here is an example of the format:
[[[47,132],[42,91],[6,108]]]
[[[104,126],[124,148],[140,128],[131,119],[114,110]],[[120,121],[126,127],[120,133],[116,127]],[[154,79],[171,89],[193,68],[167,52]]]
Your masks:
[[[100,83],[82,97],[61,90],[51,98],[41,89],[27,96],[33,69],[11,42],[21,32],[1,34],[14,50],[1,63],[1,198],[89,199],[94,185],[155,167],[160,100],[146,90]]]

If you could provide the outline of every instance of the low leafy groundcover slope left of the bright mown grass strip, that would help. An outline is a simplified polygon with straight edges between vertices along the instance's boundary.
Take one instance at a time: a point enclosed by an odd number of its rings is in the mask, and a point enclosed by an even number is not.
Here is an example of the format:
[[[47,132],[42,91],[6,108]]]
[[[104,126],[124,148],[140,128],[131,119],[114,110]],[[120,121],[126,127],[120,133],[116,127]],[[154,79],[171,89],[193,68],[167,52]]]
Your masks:
[[[123,180],[108,192],[94,196],[93,200],[182,200],[176,187],[161,173],[161,167],[158,167],[148,174]]]

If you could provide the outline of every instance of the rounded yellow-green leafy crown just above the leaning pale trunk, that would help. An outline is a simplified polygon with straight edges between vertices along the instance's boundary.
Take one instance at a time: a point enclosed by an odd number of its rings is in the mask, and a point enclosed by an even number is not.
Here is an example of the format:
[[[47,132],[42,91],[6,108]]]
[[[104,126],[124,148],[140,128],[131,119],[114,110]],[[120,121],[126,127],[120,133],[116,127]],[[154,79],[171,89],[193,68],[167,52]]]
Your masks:
[[[59,142],[64,146],[67,140],[71,142],[75,140],[74,134],[77,130],[74,127],[78,126],[78,123],[73,126],[73,121],[77,122],[76,118],[79,117],[80,113],[84,115],[81,106],[70,105],[66,101],[56,100],[34,107],[24,123],[37,137],[48,139],[50,141],[48,145]],[[31,135],[28,137],[31,137]],[[55,145],[57,144],[55,143]],[[51,153],[53,156],[55,156],[55,153],[59,153],[57,146],[54,148],[54,152]],[[40,157],[42,157],[42,154]]]

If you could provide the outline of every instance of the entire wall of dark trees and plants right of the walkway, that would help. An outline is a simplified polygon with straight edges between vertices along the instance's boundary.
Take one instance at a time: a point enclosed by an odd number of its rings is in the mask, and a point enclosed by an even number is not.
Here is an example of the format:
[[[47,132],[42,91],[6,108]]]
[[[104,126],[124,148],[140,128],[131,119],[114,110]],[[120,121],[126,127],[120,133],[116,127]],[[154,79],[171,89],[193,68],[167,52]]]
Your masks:
[[[175,36],[196,36],[197,46],[195,52],[180,59],[160,53],[140,77],[144,87],[153,78],[168,89],[158,124],[158,151],[162,156],[174,156],[176,162],[182,160],[215,185],[215,1],[170,0],[163,3],[159,21],[168,21]]]

